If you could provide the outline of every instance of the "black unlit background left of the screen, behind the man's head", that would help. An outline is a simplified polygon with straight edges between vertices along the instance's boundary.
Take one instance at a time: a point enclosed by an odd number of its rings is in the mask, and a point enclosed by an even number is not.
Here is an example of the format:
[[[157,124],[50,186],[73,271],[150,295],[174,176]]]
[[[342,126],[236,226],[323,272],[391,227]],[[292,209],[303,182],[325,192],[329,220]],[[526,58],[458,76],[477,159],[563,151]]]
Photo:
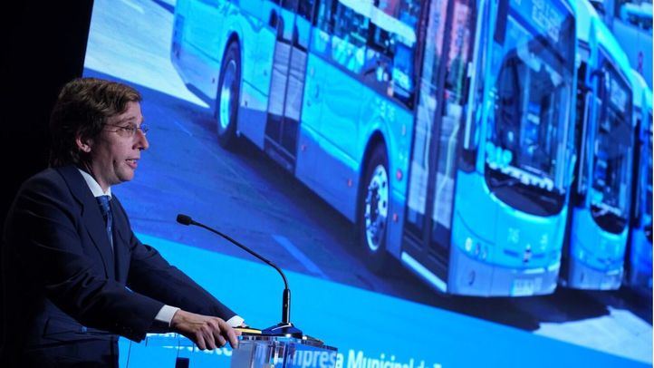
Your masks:
[[[0,22],[3,228],[21,183],[48,164],[50,111],[63,84],[82,75],[93,5],[92,0],[8,3]],[[0,313],[4,322],[9,316]],[[4,328],[1,333],[0,346]]]

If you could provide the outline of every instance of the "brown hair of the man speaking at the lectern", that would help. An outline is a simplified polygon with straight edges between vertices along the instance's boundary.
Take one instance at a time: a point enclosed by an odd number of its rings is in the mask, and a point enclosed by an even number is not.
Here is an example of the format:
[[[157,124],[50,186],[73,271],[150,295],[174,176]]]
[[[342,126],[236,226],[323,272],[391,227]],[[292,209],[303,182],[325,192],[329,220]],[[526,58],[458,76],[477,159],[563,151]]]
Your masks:
[[[87,156],[75,140],[95,139],[107,119],[126,111],[128,102],[140,101],[138,91],[119,82],[78,78],[66,83],[50,116],[50,166],[82,164]]]

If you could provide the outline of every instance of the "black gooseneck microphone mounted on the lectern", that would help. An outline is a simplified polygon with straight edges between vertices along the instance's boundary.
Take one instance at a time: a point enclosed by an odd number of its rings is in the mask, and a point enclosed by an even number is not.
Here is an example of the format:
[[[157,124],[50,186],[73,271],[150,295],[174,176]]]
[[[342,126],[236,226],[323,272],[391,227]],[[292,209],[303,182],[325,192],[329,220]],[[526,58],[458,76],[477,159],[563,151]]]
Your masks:
[[[260,259],[266,265],[272,266],[275,270],[277,270],[279,275],[281,275],[282,279],[284,280],[284,294],[282,295],[282,322],[262,330],[261,334],[274,335],[274,336],[281,335],[281,336],[289,336],[289,337],[297,337],[297,338],[303,337],[302,331],[300,331],[297,327],[293,326],[293,324],[291,323],[291,289],[288,288],[288,281],[286,281],[286,276],[284,275],[284,272],[282,272],[282,270],[278,266],[275,266],[273,262],[265,259],[264,257],[257,254],[254,250],[245,247],[243,244],[237,242],[233,238],[226,236],[225,234],[221,233],[220,231],[214,228],[209,228],[207,227],[207,225],[201,224],[193,220],[193,218],[190,218],[190,216],[183,215],[181,213],[178,214],[178,223],[186,226],[194,225],[200,228],[205,228],[211,231],[212,233],[225,238],[227,241],[234,244],[236,247],[240,247],[241,249],[245,250],[245,252]]]

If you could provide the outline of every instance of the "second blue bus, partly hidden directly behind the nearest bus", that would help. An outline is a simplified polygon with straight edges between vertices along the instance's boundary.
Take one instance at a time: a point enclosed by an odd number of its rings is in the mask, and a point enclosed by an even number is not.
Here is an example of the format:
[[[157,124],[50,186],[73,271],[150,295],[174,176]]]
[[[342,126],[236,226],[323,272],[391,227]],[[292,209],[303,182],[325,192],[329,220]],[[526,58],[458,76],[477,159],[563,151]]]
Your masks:
[[[631,68],[590,3],[577,4],[579,162],[561,279],[572,288],[608,290],[620,287],[629,232]]]

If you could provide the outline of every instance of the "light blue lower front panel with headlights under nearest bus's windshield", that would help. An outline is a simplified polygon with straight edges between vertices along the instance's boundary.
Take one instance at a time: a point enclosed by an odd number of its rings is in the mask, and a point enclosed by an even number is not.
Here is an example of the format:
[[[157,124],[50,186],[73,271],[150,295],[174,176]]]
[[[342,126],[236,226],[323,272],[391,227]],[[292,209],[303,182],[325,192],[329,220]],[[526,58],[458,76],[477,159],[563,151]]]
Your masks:
[[[476,172],[459,172],[457,185],[448,290],[482,296],[552,293],[566,209],[540,217],[511,208]]]

